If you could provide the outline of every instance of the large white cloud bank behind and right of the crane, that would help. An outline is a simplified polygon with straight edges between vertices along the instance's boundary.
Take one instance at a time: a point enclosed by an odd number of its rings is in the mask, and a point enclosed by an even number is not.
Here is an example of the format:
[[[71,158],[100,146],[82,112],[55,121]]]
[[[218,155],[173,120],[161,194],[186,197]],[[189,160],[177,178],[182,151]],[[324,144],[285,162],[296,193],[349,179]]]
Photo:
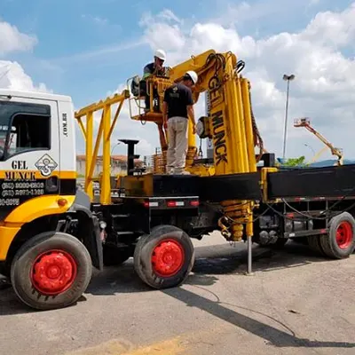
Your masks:
[[[248,4],[242,8],[248,9]],[[152,49],[168,51],[170,66],[209,49],[233,51],[238,59],[245,60],[242,74],[251,80],[256,120],[269,151],[281,154],[286,101],[282,75],[293,73],[296,80],[290,84],[288,155],[312,155],[304,143],[316,151],[322,147],[310,132],[292,127],[294,117],[307,115],[335,146],[343,147],[346,156],[355,157],[355,61],[340,51],[354,48],[354,18],[355,4],[351,4],[343,12],[319,12],[298,33],[259,39],[240,36],[234,26],[227,28],[214,21],[186,28],[185,21],[172,12],[170,16],[146,15],[141,25]]]

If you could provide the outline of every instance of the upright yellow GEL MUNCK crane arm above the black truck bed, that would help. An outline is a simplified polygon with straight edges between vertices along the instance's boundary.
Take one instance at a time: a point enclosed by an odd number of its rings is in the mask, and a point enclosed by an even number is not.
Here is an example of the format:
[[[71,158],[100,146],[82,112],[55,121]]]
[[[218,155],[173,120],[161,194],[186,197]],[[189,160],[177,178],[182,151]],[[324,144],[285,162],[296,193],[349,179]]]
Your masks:
[[[188,70],[199,75],[193,88],[195,102],[201,92],[209,94],[210,113],[204,128],[213,140],[217,175],[255,171],[256,133],[262,142],[251,112],[248,80],[237,69],[235,54],[209,50],[170,70],[173,82],[181,81]]]

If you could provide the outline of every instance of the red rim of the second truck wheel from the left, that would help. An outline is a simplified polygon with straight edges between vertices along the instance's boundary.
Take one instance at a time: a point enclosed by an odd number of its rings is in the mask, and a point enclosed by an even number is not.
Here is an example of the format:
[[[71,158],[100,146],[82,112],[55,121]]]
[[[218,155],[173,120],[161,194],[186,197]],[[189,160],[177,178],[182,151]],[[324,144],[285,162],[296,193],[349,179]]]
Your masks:
[[[185,252],[178,241],[161,241],[153,250],[153,270],[162,277],[174,276],[184,264],[184,259]]]

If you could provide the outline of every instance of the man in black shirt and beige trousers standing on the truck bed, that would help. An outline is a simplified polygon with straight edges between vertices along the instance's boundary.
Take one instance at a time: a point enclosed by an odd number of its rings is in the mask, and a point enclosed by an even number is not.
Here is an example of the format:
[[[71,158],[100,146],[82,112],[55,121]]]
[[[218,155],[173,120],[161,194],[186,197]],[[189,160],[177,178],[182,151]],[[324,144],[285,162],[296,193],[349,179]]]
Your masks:
[[[182,83],[174,83],[164,92],[162,115],[164,128],[168,131],[167,173],[188,174],[185,171],[185,159],[188,148],[188,120],[196,123],[193,113],[192,87],[197,83],[198,75],[189,70]]]

